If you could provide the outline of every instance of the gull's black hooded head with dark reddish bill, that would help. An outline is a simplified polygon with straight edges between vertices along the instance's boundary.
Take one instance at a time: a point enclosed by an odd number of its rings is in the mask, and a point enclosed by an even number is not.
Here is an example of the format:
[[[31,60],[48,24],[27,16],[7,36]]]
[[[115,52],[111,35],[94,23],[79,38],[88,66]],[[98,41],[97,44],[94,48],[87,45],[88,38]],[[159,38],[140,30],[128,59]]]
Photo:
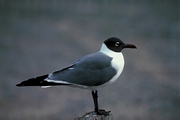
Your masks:
[[[119,38],[111,37],[104,41],[104,44],[112,51],[121,52],[124,48],[137,48],[133,44],[125,44]]]

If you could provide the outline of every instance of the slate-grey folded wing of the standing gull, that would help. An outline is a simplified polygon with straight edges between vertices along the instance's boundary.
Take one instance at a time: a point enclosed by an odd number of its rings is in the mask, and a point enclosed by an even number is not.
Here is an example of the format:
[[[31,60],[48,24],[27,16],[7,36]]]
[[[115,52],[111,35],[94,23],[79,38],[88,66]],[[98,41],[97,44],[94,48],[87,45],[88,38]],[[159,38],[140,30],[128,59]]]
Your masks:
[[[84,86],[102,85],[116,74],[111,60],[104,53],[96,52],[78,59],[67,68],[51,73],[48,80]]]

